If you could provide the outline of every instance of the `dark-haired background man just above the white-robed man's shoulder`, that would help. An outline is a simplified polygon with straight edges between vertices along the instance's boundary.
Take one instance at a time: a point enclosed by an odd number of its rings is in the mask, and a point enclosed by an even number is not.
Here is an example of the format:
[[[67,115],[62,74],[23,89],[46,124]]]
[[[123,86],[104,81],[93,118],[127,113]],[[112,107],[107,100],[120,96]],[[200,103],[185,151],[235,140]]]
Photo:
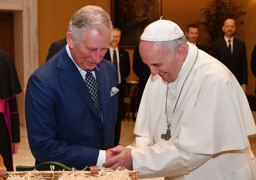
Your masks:
[[[195,44],[200,50],[207,53],[207,48],[205,46],[196,43],[198,38],[198,26],[196,24],[189,24],[186,28],[185,34],[189,43]]]

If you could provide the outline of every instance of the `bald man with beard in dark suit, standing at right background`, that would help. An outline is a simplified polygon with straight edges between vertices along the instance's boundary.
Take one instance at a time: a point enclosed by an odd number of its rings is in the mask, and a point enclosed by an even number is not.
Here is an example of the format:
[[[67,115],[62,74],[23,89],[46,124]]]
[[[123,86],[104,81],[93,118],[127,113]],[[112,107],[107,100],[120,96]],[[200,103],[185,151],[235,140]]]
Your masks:
[[[227,66],[246,92],[248,69],[245,43],[234,38],[234,19],[226,19],[222,30],[224,37],[213,43],[211,56]]]

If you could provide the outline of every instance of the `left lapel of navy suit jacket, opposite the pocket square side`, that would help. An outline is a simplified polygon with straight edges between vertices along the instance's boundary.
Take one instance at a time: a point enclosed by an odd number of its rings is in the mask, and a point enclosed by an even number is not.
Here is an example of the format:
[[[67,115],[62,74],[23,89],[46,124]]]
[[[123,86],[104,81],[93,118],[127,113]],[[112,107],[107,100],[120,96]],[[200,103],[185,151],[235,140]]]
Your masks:
[[[59,68],[62,68],[62,69],[65,67],[64,68],[65,71],[62,75],[62,78],[78,93],[78,95],[82,98],[82,100],[85,101],[88,107],[95,114],[97,119],[101,122],[97,109],[94,105],[92,97],[90,96],[88,87],[86,86],[83,80],[83,77],[81,76],[81,73],[78,71],[77,66],[68,56],[67,51],[65,49],[63,50],[65,51],[66,54],[63,54],[63,52],[61,53],[63,58],[59,60],[57,65]],[[60,61],[63,61],[63,62],[60,62]],[[67,64],[65,64],[65,62]]]

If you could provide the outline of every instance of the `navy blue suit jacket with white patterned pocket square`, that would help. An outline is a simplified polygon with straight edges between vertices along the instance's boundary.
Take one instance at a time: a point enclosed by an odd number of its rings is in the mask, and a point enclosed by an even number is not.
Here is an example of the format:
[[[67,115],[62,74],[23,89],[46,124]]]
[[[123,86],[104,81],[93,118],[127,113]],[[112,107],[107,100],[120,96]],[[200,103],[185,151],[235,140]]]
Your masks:
[[[115,66],[95,68],[103,125],[89,90],[65,47],[29,78],[25,116],[29,147],[36,164],[56,161],[82,170],[96,165],[99,150],[113,148],[117,119]]]

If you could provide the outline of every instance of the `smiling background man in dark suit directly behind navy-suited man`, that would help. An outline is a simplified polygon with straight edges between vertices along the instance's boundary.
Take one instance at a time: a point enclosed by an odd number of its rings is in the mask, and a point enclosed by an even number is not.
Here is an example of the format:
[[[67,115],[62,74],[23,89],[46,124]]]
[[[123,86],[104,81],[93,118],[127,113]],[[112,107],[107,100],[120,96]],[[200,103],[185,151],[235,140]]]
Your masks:
[[[124,108],[124,98],[126,96],[126,78],[131,71],[129,53],[118,47],[120,42],[121,30],[113,28],[113,39],[110,42],[110,47],[104,56],[104,59],[111,61],[117,70],[117,88],[118,92],[118,111],[117,122],[115,123],[114,147],[119,145],[121,133],[122,110]]]

